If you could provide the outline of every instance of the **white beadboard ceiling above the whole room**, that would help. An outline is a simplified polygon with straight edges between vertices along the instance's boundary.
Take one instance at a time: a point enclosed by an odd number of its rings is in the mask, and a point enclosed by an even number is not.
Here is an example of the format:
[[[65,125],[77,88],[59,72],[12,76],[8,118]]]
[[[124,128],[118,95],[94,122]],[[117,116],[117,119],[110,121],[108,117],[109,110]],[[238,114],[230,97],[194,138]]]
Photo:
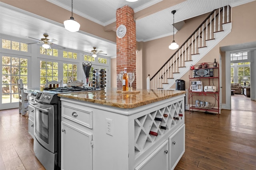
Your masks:
[[[70,11],[71,0],[47,0],[66,10]],[[115,22],[116,10],[124,5],[128,5],[139,12],[148,7],[156,6],[156,3],[173,0],[138,0],[137,2],[127,2],[125,0],[73,0],[73,13],[78,14],[88,20],[106,26]],[[141,17],[136,20],[137,41],[149,41],[160,37],[172,35],[172,10],[176,10],[174,16],[175,23],[193,18],[222,6],[237,6],[254,0],[186,0],[175,6],[162,9],[159,12]],[[76,18],[75,18],[76,19]],[[79,22],[79,21],[78,21]],[[64,29],[63,23],[57,23],[46,18],[36,16],[24,10],[14,8],[0,2],[0,33],[22,37],[26,43],[36,42],[36,40],[26,38],[43,38],[43,33],[49,35],[49,39],[56,39],[57,45],[79,51],[91,51],[92,47],[107,53],[109,57],[116,56],[116,43],[90,35],[83,31],[71,33]],[[177,31],[175,29],[175,31]],[[85,53],[86,54],[86,53]]]

